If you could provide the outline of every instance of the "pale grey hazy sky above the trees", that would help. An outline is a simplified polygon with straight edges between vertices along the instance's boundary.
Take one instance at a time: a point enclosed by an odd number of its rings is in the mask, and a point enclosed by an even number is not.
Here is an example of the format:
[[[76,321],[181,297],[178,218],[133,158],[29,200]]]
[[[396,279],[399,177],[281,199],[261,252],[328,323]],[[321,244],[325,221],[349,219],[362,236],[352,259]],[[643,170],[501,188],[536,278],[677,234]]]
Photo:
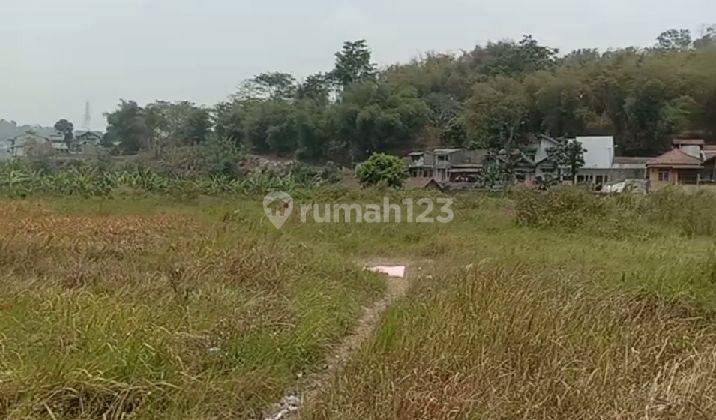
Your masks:
[[[263,71],[301,79],[366,39],[379,66],[532,34],[562,52],[651,46],[713,0],[0,0],[0,119],[92,129],[120,98],[213,105]]]

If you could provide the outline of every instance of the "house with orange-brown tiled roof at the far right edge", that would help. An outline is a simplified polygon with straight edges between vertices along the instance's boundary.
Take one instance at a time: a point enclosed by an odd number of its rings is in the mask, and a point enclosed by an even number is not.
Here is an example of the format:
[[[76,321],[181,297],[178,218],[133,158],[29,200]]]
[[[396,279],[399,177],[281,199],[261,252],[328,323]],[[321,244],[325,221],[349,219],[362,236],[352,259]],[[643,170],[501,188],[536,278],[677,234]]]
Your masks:
[[[716,178],[716,148],[701,139],[675,139],[674,148],[646,163],[652,188],[665,185],[698,185]]]

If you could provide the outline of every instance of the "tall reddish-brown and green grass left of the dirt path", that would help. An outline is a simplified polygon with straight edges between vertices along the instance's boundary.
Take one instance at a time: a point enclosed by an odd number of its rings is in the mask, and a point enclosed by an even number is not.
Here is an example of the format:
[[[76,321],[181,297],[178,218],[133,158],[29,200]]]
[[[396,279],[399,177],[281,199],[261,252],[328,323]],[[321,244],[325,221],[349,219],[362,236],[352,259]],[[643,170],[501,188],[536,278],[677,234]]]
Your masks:
[[[0,211],[2,418],[258,415],[381,290],[231,213]]]

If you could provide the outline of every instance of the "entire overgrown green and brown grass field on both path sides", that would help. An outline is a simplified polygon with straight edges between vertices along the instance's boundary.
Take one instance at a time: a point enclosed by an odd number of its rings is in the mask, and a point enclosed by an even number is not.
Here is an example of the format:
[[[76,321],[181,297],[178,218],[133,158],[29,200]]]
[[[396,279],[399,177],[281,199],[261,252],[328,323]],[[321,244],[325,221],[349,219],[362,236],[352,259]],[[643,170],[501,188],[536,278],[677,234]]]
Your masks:
[[[259,416],[382,296],[376,257],[433,268],[306,418],[716,417],[712,198],[455,199],[280,231],[260,199],[2,201],[0,417]]]

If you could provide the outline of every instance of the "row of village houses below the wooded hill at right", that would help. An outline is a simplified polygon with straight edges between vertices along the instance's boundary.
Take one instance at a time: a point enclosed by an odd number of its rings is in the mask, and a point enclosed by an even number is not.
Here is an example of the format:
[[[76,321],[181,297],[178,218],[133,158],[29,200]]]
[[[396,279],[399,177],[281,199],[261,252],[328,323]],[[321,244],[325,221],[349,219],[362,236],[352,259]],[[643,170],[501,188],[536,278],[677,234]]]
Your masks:
[[[558,140],[536,136],[512,155],[505,150],[447,148],[410,153],[409,183],[441,189],[489,187],[490,168],[507,164],[513,166],[513,181],[526,184],[553,179],[589,184],[595,190],[609,191],[609,187],[621,184],[622,189],[631,185],[649,191],[666,185],[716,183],[716,145],[706,145],[702,139],[674,139],[671,150],[653,157],[616,156],[611,136],[576,137],[571,141],[579,142],[584,150],[584,164],[573,179],[550,158],[548,151],[558,145]]]

